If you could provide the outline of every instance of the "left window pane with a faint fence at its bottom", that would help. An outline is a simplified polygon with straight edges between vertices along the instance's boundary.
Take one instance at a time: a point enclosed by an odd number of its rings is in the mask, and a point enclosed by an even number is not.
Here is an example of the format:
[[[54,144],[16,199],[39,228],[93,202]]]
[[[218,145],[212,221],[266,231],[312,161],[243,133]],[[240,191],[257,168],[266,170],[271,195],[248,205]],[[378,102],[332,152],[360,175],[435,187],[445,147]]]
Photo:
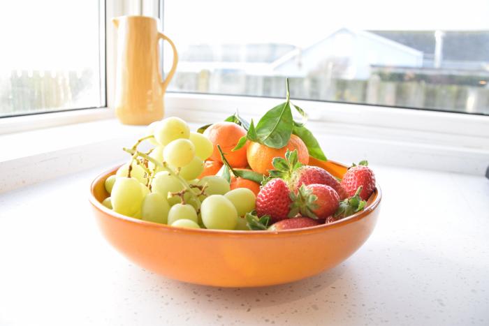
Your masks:
[[[98,0],[0,5],[0,117],[105,105],[100,15]]]

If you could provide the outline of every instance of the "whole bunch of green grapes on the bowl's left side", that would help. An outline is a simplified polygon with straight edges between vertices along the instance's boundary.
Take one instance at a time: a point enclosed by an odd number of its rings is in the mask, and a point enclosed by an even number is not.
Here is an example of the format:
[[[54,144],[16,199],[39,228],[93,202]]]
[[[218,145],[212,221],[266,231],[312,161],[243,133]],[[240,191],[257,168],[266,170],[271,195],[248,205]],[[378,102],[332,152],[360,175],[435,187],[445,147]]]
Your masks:
[[[154,147],[137,151],[143,140]],[[102,204],[119,214],[182,228],[248,230],[245,218],[255,208],[247,188],[230,191],[219,176],[197,179],[214,147],[205,135],[170,117],[147,128],[147,136],[129,151],[131,161],[105,180],[110,194]]]

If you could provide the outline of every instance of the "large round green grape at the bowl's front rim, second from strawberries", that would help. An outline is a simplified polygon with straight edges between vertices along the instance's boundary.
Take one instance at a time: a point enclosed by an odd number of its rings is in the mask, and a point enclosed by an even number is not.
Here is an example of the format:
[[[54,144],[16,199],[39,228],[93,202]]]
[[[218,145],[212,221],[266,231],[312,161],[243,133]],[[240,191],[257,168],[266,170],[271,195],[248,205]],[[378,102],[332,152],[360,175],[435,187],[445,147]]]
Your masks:
[[[205,228],[234,230],[238,223],[238,212],[233,203],[224,195],[210,195],[200,207]]]

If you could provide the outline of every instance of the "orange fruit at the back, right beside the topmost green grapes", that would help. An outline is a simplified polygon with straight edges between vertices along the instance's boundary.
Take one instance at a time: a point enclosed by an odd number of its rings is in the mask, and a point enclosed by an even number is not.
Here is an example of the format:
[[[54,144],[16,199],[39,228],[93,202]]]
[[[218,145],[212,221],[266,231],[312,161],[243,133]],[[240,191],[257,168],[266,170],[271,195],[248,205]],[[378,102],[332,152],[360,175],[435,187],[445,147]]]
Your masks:
[[[238,124],[233,122],[221,121],[213,124],[207,128],[204,135],[209,138],[209,140],[214,145],[214,151],[210,156],[210,160],[216,162],[221,161],[221,155],[217,150],[217,145],[221,146],[224,154],[226,154],[226,159],[233,168],[245,168],[247,166],[246,149],[247,145],[239,149],[238,151],[231,151],[242,136],[246,135],[246,130]]]

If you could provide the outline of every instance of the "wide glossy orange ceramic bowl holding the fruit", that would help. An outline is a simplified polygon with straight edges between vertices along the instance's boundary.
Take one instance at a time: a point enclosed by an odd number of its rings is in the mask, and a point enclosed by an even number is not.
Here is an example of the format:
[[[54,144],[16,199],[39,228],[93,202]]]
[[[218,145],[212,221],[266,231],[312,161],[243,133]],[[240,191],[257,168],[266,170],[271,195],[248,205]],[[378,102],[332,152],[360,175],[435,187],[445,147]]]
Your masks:
[[[336,177],[346,166],[312,158]],[[381,191],[362,211],[330,224],[295,230],[227,231],[173,228],[117,214],[101,205],[108,196],[104,181],[92,182],[90,202],[105,238],[145,269],[206,286],[271,286],[305,279],[335,267],[367,240],[379,215]]]

